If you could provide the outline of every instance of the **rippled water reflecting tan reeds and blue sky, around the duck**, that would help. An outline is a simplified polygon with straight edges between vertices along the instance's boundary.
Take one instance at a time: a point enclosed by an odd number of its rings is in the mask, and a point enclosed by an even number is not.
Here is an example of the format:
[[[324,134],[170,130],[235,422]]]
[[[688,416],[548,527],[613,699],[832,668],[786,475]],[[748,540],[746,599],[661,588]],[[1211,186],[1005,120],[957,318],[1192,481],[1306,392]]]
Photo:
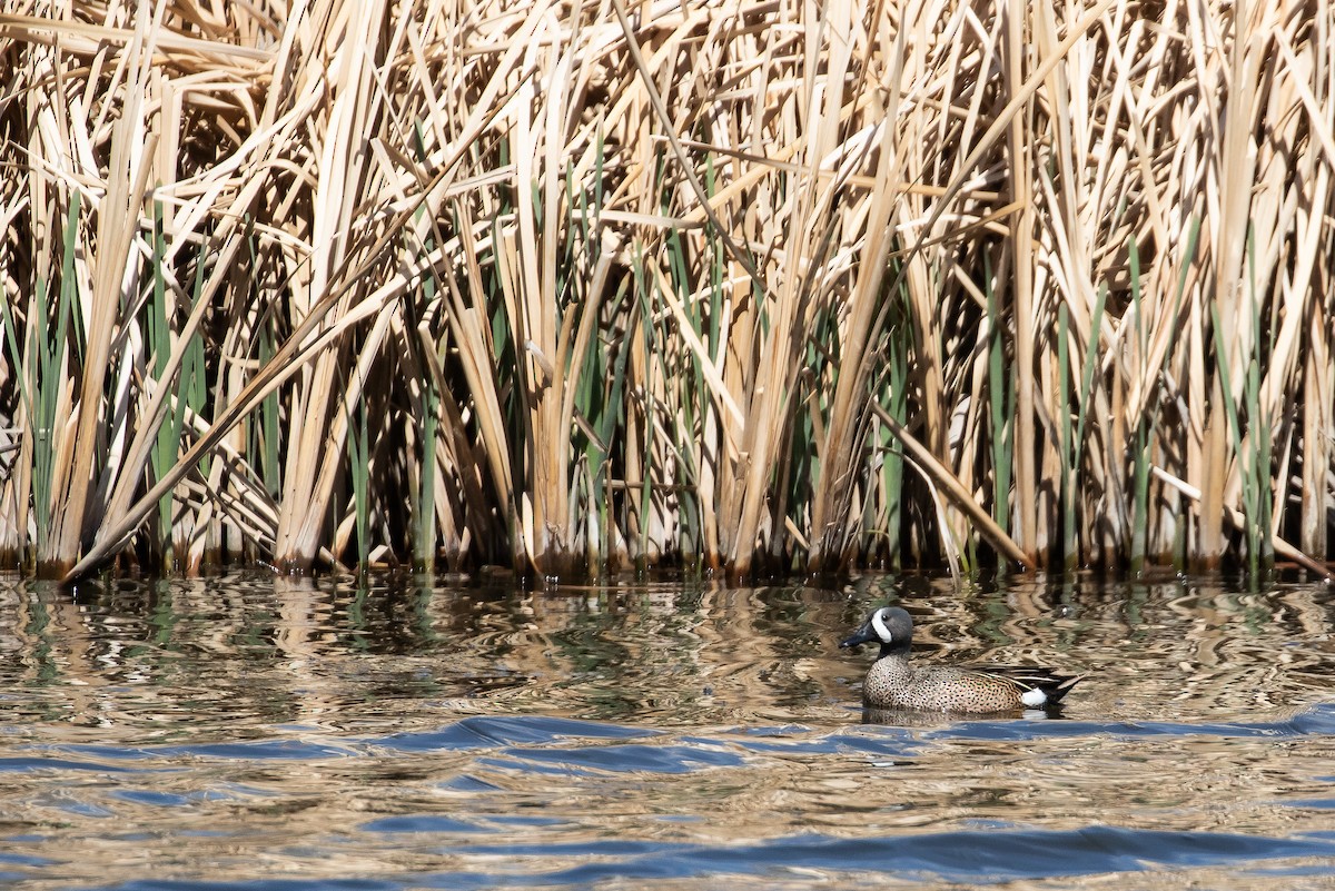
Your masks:
[[[862,723],[924,660],[1060,719]],[[1331,590],[0,579],[16,888],[1335,886]],[[874,716],[872,716],[874,718]]]

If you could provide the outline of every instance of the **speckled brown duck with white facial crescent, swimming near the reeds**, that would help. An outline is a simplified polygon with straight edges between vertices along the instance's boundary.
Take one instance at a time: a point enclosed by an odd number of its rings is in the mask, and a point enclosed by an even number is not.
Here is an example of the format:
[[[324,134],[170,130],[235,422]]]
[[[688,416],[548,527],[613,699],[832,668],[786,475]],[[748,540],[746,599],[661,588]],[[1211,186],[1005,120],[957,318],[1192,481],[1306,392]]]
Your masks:
[[[840,647],[873,640],[881,652],[862,682],[866,708],[975,715],[1048,708],[1080,680],[1048,668],[914,668],[909,660],[913,619],[900,607],[874,610]]]

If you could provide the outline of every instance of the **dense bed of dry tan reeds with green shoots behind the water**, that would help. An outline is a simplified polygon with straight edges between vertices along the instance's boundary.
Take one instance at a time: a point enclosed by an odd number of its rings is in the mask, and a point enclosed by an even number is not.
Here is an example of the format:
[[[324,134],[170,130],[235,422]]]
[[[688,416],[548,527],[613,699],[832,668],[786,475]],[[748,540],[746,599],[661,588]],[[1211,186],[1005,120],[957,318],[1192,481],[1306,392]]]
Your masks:
[[[1335,12],[0,13],[0,563],[1222,563],[1335,524]]]

